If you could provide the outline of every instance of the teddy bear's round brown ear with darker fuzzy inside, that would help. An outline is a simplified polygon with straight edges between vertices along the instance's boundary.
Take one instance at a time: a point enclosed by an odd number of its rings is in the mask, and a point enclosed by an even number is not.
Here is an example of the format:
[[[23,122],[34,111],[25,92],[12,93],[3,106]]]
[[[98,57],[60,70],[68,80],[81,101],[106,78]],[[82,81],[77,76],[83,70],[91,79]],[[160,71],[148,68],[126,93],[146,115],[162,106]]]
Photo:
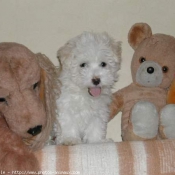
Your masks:
[[[138,45],[152,35],[151,27],[146,23],[134,24],[128,33],[128,42],[135,50]]]

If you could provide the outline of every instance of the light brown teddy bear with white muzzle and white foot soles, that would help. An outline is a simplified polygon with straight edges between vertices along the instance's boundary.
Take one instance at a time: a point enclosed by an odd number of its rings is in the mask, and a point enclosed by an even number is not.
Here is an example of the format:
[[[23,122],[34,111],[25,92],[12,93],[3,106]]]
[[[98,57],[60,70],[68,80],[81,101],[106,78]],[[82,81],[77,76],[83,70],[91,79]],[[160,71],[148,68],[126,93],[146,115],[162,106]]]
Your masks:
[[[175,138],[175,105],[166,105],[175,76],[175,38],[152,35],[146,23],[134,24],[128,34],[134,49],[133,82],[114,93],[111,118],[122,111],[124,141]]]

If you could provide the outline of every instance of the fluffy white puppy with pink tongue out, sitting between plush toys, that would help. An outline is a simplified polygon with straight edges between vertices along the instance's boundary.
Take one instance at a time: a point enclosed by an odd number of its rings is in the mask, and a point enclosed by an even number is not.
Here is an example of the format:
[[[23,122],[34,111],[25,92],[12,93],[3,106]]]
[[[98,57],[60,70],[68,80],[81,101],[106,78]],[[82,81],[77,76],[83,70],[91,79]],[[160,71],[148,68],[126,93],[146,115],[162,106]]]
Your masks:
[[[84,32],[58,50],[62,66],[56,143],[105,141],[111,87],[120,68],[121,44],[107,33]]]

